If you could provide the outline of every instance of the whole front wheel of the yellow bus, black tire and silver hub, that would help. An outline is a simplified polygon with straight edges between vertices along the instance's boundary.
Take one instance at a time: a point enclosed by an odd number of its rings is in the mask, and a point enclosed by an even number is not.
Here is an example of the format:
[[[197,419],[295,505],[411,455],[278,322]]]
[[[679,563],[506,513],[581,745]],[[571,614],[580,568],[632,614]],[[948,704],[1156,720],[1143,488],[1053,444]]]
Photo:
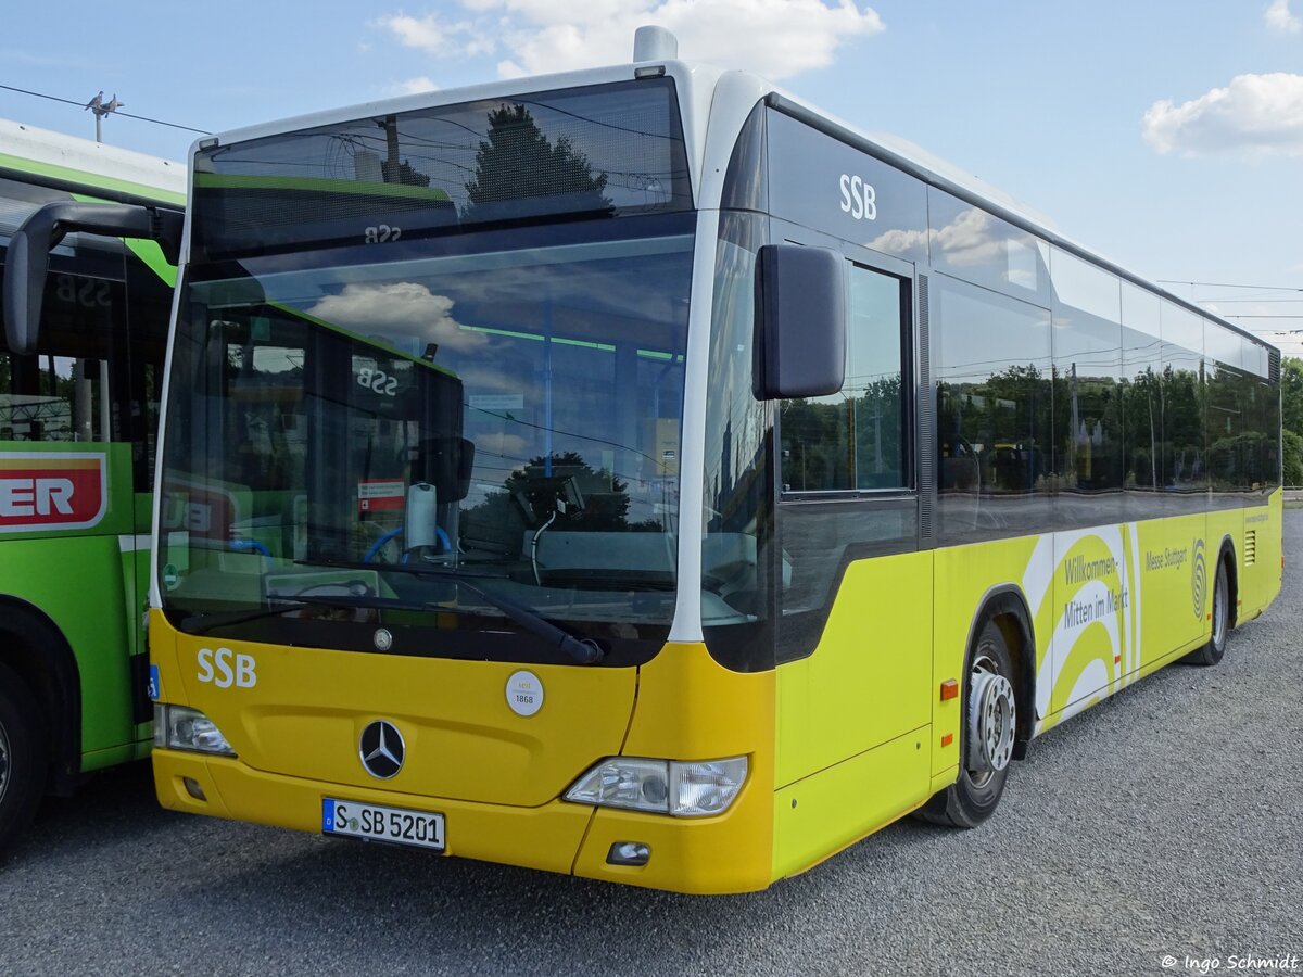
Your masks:
[[[1005,634],[986,621],[964,684],[959,776],[920,815],[936,825],[977,827],[999,804],[1018,736],[1018,697]]]

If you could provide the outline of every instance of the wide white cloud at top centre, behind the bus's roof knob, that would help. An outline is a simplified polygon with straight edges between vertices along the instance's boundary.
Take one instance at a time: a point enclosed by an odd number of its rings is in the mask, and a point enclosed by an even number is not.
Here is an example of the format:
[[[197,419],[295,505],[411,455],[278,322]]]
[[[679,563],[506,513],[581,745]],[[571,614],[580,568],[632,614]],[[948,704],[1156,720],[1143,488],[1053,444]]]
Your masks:
[[[671,30],[685,60],[747,68],[770,78],[833,64],[846,42],[883,30],[882,18],[855,0],[457,0],[469,20],[405,14],[377,23],[400,43],[438,56],[502,52],[498,73],[521,74],[628,61],[633,31]]]

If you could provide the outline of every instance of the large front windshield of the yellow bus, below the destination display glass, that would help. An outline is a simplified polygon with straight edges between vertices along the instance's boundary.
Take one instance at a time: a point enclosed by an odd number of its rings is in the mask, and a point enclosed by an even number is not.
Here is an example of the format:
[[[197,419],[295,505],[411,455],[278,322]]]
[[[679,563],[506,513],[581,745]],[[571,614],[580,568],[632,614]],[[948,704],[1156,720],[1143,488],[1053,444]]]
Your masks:
[[[452,657],[494,657],[491,630],[552,660],[509,601],[607,650],[663,641],[691,267],[691,215],[192,266],[164,608],[341,649],[439,628],[421,654]]]

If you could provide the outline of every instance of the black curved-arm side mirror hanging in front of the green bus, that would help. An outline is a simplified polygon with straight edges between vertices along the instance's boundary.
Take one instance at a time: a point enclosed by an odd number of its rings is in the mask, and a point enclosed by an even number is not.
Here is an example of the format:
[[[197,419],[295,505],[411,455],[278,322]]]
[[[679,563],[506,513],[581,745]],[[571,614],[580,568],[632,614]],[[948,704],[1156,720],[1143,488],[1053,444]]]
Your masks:
[[[50,251],[64,236],[83,231],[104,237],[158,241],[176,264],[185,216],[165,207],[130,203],[73,203],[59,201],[27,218],[9,240],[4,264],[5,339],[14,353],[35,353],[40,343],[40,304],[46,293]]]

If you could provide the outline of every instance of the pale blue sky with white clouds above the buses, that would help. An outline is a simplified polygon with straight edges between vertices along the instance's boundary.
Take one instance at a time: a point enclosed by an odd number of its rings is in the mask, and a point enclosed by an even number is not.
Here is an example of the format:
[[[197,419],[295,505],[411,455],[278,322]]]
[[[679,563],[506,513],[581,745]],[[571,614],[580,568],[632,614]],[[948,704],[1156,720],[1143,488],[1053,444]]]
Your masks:
[[[228,0],[46,3],[5,18],[0,85],[211,132],[425,87],[680,56],[767,74],[902,135],[1057,229],[1303,354],[1303,0]],[[0,90],[0,116],[94,134],[79,107]],[[128,117],[128,149],[193,133]],[[1221,283],[1267,285],[1263,290]],[[1268,302],[1268,298],[1296,300]]]

